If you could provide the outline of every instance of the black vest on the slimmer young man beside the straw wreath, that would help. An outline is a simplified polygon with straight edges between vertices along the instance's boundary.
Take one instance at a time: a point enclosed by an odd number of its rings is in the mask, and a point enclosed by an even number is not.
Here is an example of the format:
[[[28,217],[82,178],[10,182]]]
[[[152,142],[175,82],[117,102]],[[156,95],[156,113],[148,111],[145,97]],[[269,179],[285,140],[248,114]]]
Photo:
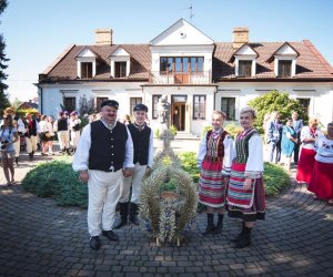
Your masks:
[[[139,162],[140,165],[147,165],[151,129],[145,126],[142,131],[139,131],[134,124],[129,124],[128,129],[131,132],[134,146],[133,163]]]

